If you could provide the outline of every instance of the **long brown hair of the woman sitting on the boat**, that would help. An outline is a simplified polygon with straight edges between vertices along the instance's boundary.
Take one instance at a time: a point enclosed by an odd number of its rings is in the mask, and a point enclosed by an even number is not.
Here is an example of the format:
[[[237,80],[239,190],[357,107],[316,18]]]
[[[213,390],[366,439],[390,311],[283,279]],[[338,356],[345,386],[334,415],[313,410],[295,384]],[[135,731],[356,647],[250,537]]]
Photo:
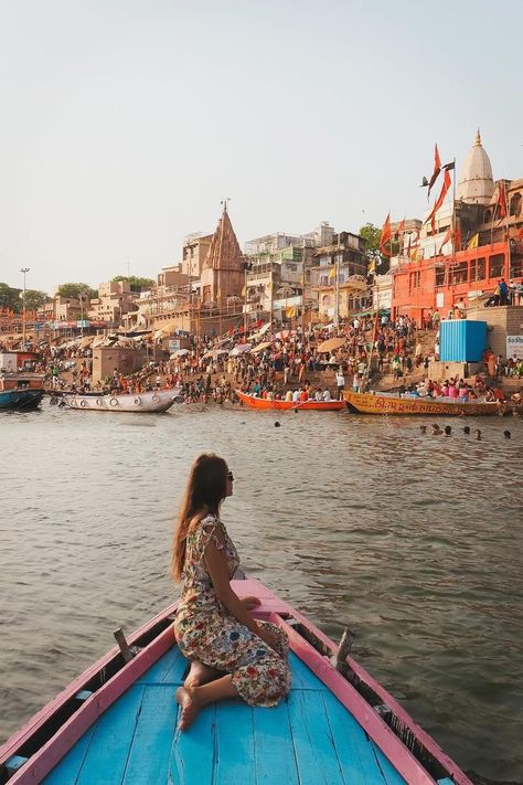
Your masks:
[[[227,464],[213,453],[200,455],[191,467],[185,495],[178,516],[172,545],[171,575],[182,577],[186,538],[191,522],[201,513],[217,516],[227,494]]]

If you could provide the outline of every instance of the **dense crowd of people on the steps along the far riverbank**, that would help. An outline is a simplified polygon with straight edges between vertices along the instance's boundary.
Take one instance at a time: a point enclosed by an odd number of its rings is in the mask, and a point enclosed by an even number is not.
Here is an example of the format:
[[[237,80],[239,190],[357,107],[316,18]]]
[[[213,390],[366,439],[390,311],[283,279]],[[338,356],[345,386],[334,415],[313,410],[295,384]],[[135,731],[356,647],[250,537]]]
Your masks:
[[[437,328],[439,314],[427,314],[426,321],[426,327]],[[82,341],[65,346],[43,343],[39,360],[29,370],[44,373],[47,385],[55,391],[139,394],[169,388],[177,389],[188,403],[234,401],[234,389],[269,400],[329,401],[342,399],[345,389],[363,392],[386,374],[406,396],[461,401],[481,396],[489,401],[502,397],[495,380],[523,378],[523,360],[514,356],[503,362],[500,356],[485,352],[485,373],[478,374],[473,383],[458,378],[444,382],[428,379],[430,359],[438,359],[437,341],[434,352],[428,353],[414,319],[406,316],[396,320],[386,315],[354,317],[342,320],[338,328],[259,328],[258,325],[245,333],[238,327],[223,336],[198,339],[185,333],[186,348],[170,358],[158,342],[148,347],[151,351],[141,370],[125,374],[115,368],[96,382],[93,350]],[[329,351],[324,351],[325,341],[332,344]],[[161,359],[149,360],[150,356]],[[425,379],[409,383],[416,372],[415,379],[419,379],[419,371]]]

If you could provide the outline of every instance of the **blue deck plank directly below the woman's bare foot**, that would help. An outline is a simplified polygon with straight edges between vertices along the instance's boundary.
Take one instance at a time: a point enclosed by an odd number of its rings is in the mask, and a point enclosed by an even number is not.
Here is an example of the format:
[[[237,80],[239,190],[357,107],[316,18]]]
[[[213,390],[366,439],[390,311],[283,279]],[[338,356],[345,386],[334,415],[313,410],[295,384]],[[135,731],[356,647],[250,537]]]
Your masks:
[[[209,710],[207,710],[209,709]],[[188,733],[177,731],[169,765],[170,785],[211,785],[214,771],[216,707],[201,711]]]

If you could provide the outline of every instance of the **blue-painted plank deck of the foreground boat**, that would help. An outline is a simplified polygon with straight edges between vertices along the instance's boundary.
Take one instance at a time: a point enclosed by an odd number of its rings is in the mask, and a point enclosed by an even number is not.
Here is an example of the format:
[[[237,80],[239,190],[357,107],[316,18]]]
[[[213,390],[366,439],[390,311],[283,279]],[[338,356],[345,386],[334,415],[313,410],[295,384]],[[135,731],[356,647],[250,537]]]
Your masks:
[[[206,707],[175,731],[186,661],[170,649],[82,736],[45,785],[398,785],[352,714],[290,655],[292,688],[274,709]]]

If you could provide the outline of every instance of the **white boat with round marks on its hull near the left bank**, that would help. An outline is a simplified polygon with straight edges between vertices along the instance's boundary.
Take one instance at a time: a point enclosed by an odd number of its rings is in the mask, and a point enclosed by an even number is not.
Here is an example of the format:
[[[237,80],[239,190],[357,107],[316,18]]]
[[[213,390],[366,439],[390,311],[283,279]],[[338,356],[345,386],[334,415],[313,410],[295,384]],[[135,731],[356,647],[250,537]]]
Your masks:
[[[145,393],[130,393],[126,395],[89,395],[74,394],[63,395],[67,409],[78,412],[121,412],[121,413],[146,413],[167,412],[173,403],[180,402],[181,389],[152,390]]]

